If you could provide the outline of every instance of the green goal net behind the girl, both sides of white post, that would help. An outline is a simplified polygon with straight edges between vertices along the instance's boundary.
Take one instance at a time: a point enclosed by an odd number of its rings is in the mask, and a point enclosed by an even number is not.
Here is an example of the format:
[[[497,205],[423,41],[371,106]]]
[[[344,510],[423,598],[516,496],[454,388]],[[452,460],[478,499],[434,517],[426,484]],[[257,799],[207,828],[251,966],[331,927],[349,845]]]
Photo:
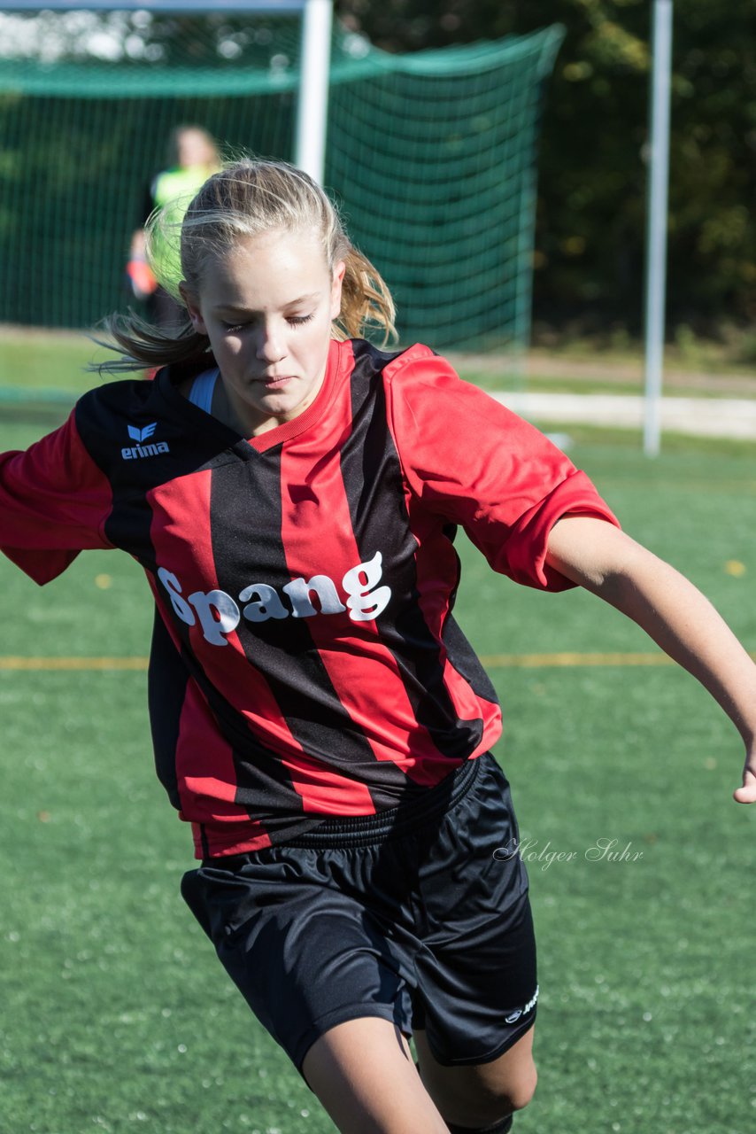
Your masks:
[[[561,35],[392,56],[337,28],[325,183],[402,341],[527,341]],[[298,15],[0,10],[0,323],[90,328],[134,305],[129,239],[177,125],[291,160],[300,39]]]

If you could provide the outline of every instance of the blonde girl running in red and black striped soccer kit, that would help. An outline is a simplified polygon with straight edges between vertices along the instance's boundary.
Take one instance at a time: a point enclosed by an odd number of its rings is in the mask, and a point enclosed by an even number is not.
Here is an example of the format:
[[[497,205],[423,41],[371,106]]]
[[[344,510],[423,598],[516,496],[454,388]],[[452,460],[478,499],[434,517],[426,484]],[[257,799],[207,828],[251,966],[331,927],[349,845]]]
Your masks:
[[[0,464],[33,578],[84,548],[144,567],[158,770],[192,823],[182,892],[349,1134],[510,1128],[537,985],[495,694],[458,629],[461,525],[491,566],[578,584],[694,674],[747,750],[756,667],[535,429],[423,346],[300,171],[243,161],[182,222],[175,333],[114,319],[107,383]],[[408,1038],[414,1035],[417,1067]]]

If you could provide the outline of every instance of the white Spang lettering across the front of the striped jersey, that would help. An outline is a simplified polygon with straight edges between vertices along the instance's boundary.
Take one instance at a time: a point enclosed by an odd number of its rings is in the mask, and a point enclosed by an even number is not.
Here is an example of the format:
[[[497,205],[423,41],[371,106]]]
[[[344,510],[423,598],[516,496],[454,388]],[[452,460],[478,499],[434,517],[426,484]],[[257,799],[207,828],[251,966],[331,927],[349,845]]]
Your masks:
[[[266,623],[271,618],[313,618],[315,615],[339,615],[349,608],[354,623],[366,623],[383,613],[391,599],[391,587],[379,586],[383,576],[383,556],[376,551],[372,559],[351,567],[341,586],[347,606],[341,602],[335,584],[328,575],[295,578],[281,587],[291,609],[283,603],[279,592],[267,583],[250,583],[239,593],[238,603],[226,591],[195,591],[184,596],[178,577],[165,567],[158,568],[158,578],[168,591],[178,618],[187,626],[199,623],[202,634],[211,645],[228,645],[241,618],[249,623]],[[313,599],[316,600],[317,607]]]

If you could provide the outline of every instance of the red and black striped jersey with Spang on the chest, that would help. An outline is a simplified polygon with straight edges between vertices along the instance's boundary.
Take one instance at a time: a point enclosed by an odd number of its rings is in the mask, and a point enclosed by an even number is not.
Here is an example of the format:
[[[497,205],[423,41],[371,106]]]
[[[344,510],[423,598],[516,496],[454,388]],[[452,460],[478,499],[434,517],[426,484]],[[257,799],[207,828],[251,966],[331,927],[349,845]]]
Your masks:
[[[158,773],[205,857],[397,806],[498,739],[452,617],[458,526],[494,570],[562,590],[554,522],[617,522],[426,347],[333,342],[312,405],[250,440],[189,403],[186,378],[104,384],[5,454],[0,545],[39,583],[86,548],[146,572]]]

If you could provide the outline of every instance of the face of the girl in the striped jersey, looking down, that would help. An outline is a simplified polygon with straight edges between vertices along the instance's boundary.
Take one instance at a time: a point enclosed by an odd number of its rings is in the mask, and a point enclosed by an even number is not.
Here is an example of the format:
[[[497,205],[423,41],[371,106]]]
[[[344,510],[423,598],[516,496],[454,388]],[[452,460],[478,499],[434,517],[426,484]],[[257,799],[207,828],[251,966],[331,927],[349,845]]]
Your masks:
[[[247,437],[298,417],[325,376],[343,263],[329,271],[309,232],[241,239],[205,266],[199,295],[181,295],[210,339],[229,405]]]

